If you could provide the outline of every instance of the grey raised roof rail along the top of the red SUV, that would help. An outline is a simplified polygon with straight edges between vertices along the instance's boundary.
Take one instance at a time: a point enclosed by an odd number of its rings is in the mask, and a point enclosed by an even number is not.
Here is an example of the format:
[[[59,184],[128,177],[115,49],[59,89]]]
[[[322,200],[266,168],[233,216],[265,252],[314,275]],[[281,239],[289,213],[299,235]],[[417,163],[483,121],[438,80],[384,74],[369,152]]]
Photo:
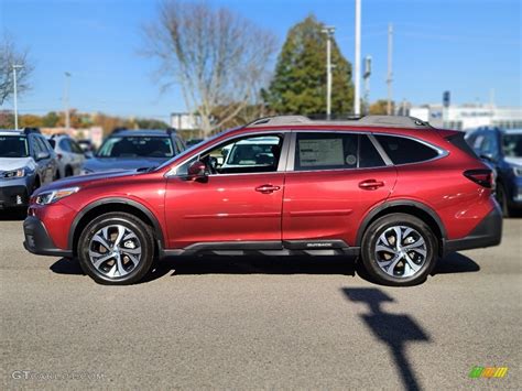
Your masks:
[[[389,128],[414,128],[426,129],[431,128],[428,122],[421,121],[415,117],[405,116],[365,116],[352,117],[344,120],[312,120],[304,116],[276,116],[257,119],[247,127],[262,127],[262,126],[283,126],[283,124],[344,124],[352,127],[389,127]]]

